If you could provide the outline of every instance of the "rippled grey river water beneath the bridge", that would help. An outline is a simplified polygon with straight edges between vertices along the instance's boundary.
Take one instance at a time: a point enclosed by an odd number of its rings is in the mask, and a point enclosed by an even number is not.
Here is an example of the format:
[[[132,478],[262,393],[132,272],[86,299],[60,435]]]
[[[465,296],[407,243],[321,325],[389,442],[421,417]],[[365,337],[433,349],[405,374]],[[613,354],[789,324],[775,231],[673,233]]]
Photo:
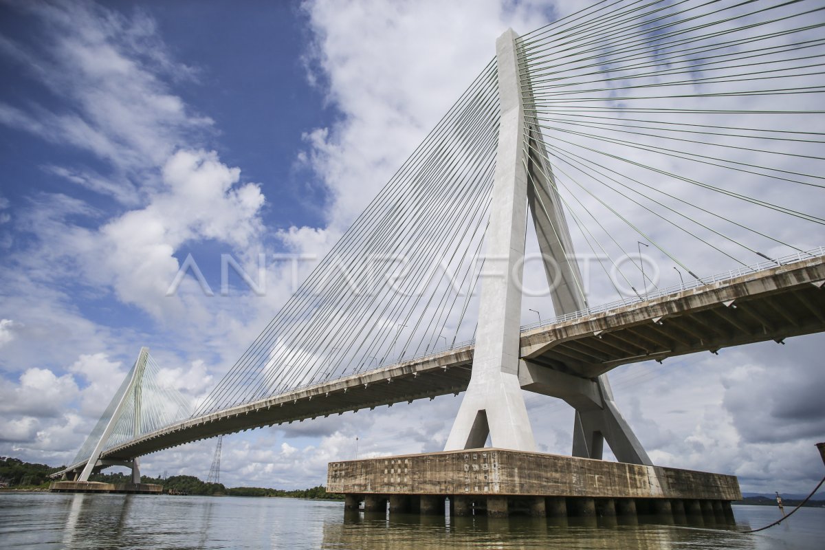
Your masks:
[[[777,519],[734,506],[735,529]],[[825,548],[825,509],[804,508],[758,534],[735,529],[559,526],[487,519],[344,513],[342,502],[281,498],[0,494],[0,548]]]

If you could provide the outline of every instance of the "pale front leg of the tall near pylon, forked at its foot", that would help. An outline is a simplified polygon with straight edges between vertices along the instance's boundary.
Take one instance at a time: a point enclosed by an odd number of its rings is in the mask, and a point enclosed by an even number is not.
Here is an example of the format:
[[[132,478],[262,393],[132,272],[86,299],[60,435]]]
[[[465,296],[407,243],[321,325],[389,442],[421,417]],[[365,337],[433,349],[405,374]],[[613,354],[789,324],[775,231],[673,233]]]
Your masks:
[[[518,382],[521,280],[526,238],[524,110],[516,33],[496,41],[501,119],[493,175],[493,204],[485,245],[479,328],[473,370],[445,450],[493,446],[535,451]]]

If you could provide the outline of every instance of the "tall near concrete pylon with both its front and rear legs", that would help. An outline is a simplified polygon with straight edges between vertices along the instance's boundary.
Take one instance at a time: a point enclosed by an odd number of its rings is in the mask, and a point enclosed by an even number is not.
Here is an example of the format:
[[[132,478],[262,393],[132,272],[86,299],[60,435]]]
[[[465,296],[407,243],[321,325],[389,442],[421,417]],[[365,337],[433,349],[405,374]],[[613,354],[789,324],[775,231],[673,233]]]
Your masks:
[[[579,378],[521,358],[521,296],[530,210],[556,315],[587,309],[582,275],[540,126],[525,109],[530,82],[519,70],[518,35],[496,42],[500,125],[487,257],[472,374],[445,450],[493,447],[535,452],[521,388],[559,397],[576,409],[573,456],[602,458],[604,441],[620,462],[651,464],[613,401],[606,375]],[[531,120],[532,119],[532,120]]]

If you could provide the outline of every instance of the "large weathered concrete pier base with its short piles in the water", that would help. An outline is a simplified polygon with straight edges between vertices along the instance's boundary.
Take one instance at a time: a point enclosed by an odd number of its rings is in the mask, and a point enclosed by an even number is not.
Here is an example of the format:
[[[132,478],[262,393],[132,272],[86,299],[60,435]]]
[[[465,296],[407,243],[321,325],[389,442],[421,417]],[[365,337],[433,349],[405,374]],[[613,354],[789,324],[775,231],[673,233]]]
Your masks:
[[[457,517],[577,518],[635,524],[733,523],[736,477],[507,449],[466,449],[330,463],[345,508]],[[450,510],[445,500],[450,499]]]

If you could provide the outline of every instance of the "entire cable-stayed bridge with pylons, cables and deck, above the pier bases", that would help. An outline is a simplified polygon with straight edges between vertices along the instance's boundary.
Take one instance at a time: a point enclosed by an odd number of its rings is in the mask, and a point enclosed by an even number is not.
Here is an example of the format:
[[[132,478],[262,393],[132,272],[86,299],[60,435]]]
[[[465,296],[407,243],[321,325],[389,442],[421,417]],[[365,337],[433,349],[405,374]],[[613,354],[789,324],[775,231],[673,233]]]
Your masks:
[[[180,397],[142,351],[64,473],[461,392],[446,449],[530,451],[522,388],[576,409],[574,456],[650,464],[610,369],[825,329],[823,9],[619,0],[508,31],[196,411],[159,407]],[[556,315],[535,327],[528,237]]]

